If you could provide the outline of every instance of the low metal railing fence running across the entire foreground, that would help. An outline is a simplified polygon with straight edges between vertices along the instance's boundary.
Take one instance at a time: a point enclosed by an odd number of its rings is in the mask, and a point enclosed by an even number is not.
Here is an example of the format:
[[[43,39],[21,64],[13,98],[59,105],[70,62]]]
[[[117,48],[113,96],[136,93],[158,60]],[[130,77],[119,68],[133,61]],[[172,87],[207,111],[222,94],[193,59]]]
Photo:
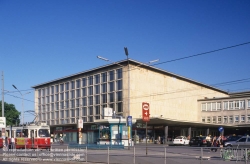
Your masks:
[[[211,148],[165,145],[136,145],[122,149],[111,146],[53,145],[50,151],[13,149],[3,151],[3,159],[11,161],[70,161],[107,164],[224,164],[250,163],[247,148]],[[15,157],[15,158],[13,158]],[[13,160],[12,160],[13,161]]]

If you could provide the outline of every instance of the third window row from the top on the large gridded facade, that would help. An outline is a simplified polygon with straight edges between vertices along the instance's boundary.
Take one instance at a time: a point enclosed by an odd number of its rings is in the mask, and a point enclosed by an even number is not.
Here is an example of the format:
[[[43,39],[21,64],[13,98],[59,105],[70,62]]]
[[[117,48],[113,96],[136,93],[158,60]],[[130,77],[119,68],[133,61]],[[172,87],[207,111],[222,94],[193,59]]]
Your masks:
[[[59,109],[68,109],[81,106],[114,103],[114,102],[120,102],[122,100],[123,100],[122,91],[119,91],[119,92],[112,92],[109,94],[83,97],[81,99],[66,100],[46,105],[39,105],[38,111],[39,112],[54,111]]]

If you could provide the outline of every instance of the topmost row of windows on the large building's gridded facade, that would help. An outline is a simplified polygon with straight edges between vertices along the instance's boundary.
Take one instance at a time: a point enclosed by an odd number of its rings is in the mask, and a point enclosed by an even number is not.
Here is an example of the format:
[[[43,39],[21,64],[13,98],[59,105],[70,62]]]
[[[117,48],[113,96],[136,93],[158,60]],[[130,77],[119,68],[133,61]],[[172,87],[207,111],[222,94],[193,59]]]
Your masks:
[[[115,73],[116,72],[116,73]],[[38,90],[38,97],[122,79],[122,69],[111,70]],[[112,88],[112,83],[110,84]]]

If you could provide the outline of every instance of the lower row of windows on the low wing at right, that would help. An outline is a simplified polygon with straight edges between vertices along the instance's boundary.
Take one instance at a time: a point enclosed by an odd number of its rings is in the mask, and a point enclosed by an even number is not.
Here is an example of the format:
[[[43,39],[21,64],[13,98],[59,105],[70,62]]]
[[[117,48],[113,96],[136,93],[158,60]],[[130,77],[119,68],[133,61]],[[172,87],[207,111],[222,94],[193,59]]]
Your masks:
[[[244,123],[250,122],[250,115],[234,115],[234,116],[208,116],[202,117],[201,119],[204,123]]]

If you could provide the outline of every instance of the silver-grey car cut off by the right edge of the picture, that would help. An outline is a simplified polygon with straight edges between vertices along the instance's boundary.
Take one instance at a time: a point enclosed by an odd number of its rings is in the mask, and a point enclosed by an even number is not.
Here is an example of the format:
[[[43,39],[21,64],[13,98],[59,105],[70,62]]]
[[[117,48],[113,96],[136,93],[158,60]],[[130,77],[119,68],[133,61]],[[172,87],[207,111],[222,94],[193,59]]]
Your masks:
[[[250,136],[243,136],[236,141],[227,141],[225,147],[247,147],[250,148]]]

